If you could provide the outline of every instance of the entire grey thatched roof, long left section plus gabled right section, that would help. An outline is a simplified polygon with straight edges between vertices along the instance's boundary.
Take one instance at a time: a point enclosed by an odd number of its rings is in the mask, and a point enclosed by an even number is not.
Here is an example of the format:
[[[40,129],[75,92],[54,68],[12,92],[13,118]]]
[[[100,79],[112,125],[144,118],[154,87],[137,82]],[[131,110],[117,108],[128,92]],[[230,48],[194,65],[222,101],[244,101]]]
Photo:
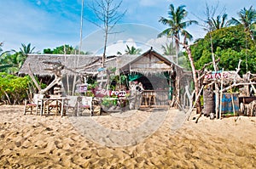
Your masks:
[[[169,57],[171,58],[171,57]],[[30,68],[32,74],[37,76],[53,76],[49,69],[52,65],[45,62],[59,62],[64,65],[62,74],[73,75],[75,72],[97,73],[101,68],[102,56],[75,55],[75,54],[28,54],[19,74],[28,74]],[[121,71],[136,71],[140,73],[155,73],[162,71],[183,70],[182,67],[174,64],[171,59],[167,59],[156,53],[152,48],[144,54],[125,54],[121,56],[108,57],[105,60],[105,67],[116,67]]]

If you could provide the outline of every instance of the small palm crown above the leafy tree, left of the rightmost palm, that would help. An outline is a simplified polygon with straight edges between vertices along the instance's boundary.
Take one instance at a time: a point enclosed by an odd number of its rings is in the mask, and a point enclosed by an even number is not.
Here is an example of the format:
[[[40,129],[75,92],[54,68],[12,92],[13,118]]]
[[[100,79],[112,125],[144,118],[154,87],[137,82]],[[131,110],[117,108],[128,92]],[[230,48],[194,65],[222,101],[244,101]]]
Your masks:
[[[216,19],[212,17],[212,19],[207,20],[207,24],[210,26],[210,30],[218,30],[228,25],[228,14],[223,14],[222,16],[218,15]]]

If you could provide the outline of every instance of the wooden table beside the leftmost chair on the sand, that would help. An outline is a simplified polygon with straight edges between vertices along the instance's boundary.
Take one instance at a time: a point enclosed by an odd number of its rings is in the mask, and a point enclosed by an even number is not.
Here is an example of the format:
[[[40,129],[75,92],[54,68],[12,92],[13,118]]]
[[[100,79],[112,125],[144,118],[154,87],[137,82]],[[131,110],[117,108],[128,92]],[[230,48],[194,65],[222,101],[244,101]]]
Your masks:
[[[64,103],[67,100],[66,97],[58,97],[58,98],[45,98],[42,99],[42,106],[40,115],[49,115],[49,113],[55,108],[55,115],[58,113],[63,116]]]

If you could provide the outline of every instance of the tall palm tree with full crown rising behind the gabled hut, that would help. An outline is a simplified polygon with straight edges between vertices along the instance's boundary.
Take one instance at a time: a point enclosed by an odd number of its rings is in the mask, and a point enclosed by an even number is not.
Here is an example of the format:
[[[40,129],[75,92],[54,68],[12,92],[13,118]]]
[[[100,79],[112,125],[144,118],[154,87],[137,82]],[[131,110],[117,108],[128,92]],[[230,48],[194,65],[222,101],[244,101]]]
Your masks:
[[[179,52],[179,40],[181,36],[185,36],[187,39],[191,40],[192,35],[189,34],[185,29],[192,24],[197,24],[195,20],[187,20],[184,19],[187,17],[188,12],[184,9],[185,6],[181,5],[174,8],[173,4],[170,5],[170,11],[168,12],[168,18],[161,17],[160,22],[164,25],[169,25],[165,31],[162,31],[158,37],[166,35],[167,37],[175,38],[175,46],[176,46],[176,54]]]

